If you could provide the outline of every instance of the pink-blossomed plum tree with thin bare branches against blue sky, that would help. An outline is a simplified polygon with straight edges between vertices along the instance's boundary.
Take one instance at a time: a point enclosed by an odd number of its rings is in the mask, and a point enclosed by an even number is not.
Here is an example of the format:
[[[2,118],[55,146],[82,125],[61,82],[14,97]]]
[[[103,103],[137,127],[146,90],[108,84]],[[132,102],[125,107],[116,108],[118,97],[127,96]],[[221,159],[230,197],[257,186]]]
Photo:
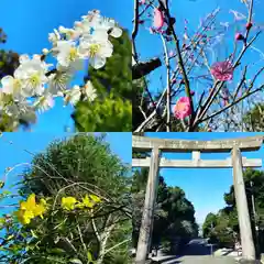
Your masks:
[[[220,22],[221,9],[217,9],[194,32],[188,18],[182,31],[176,29],[168,0],[134,1],[133,79],[142,87],[133,106],[135,132],[246,130],[244,116],[263,100],[260,77],[264,67],[263,53],[255,46],[261,34],[253,13],[255,1],[240,2],[246,14],[230,10],[234,21]],[[143,28],[160,37],[163,56],[142,62],[136,37]],[[158,67],[166,85],[155,94],[147,75]]]

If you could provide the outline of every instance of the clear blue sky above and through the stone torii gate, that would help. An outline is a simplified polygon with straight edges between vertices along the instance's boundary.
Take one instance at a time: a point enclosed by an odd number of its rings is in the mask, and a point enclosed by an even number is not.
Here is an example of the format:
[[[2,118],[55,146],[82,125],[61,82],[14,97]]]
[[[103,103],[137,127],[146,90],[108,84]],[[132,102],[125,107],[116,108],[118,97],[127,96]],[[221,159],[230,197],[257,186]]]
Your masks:
[[[150,138],[184,139],[184,140],[218,140],[235,139],[264,133],[146,133]],[[190,153],[165,154],[167,158],[188,160]],[[222,160],[230,156],[228,153],[201,154],[205,160]],[[243,156],[263,158],[264,147],[257,152],[246,152]],[[262,169],[264,169],[262,167]],[[217,212],[224,207],[223,194],[232,185],[232,169],[230,168],[165,168],[161,175],[169,186],[179,186],[186,197],[194,204],[198,223],[202,223],[208,212]]]

